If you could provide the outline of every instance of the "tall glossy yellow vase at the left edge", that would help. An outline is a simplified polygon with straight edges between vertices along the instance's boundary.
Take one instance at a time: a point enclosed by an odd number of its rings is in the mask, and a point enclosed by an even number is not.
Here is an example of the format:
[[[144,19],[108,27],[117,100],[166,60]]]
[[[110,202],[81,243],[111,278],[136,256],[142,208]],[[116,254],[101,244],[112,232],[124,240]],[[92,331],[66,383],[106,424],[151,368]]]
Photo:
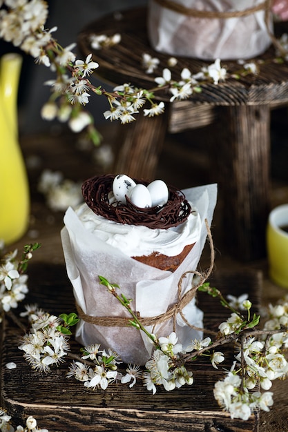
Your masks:
[[[17,92],[22,58],[0,59],[0,239],[6,245],[25,233],[30,211],[26,166],[18,141]]]

